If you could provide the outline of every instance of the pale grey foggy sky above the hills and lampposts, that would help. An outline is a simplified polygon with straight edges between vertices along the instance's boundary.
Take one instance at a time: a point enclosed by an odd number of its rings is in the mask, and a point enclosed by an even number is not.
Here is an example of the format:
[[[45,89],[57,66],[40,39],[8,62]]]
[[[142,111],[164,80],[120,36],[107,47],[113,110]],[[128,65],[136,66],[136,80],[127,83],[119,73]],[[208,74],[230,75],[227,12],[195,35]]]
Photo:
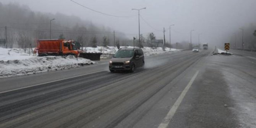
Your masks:
[[[106,16],[79,6],[70,0],[0,0],[3,4],[10,2],[27,5],[32,11],[45,13],[63,13],[75,15],[81,19],[91,21],[99,26],[110,27],[113,30],[124,32],[128,38],[138,36],[138,11],[132,8],[143,8],[140,18],[141,33],[154,32],[158,39],[169,41],[169,25],[171,27],[171,42],[190,41],[198,43],[198,34],[201,34],[201,43],[222,45],[224,39],[232,31],[256,25],[256,0],[74,0],[84,6],[103,13],[117,16],[131,16],[117,18]],[[56,19],[58,20],[58,19]],[[256,28],[255,28],[256,29]]]

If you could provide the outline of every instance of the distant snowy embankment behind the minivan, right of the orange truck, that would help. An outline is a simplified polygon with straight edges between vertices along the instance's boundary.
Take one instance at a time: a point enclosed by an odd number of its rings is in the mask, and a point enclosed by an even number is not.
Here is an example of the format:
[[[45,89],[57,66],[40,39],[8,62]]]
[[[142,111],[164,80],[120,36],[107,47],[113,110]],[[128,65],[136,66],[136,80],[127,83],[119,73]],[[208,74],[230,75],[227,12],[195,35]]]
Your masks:
[[[122,48],[124,46],[121,46]],[[133,48],[132,46],[126,46],[129,48]],[[156,55],[156,54],[164,54],[164,53],[170,53],[170,52],[175,52],[175,51],[180,51],[180,49],[170,49],[166,48],[165,51],[162,49],[162,47],[157,47],[157,48],[151,48],[151,47],[143,47],[143,52],[145,56],[149,55]],[[89,52],[89,53],[99,53],[101,52],[102,55],[100,58],[111,58],[115,52],[117,52],[117,47],[113,46],[107,46],[107,47],[83,47],[84,52]]]

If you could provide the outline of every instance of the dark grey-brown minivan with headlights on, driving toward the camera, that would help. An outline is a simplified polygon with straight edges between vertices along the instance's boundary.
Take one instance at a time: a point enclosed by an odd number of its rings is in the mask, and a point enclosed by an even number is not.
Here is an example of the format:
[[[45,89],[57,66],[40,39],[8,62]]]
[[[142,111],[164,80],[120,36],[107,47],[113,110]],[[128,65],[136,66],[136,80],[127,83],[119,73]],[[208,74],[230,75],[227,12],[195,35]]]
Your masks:
[[[109,70],[134,72],[135,68],[144,66],[144,53],[141,48],[123,47],[109,61]]]

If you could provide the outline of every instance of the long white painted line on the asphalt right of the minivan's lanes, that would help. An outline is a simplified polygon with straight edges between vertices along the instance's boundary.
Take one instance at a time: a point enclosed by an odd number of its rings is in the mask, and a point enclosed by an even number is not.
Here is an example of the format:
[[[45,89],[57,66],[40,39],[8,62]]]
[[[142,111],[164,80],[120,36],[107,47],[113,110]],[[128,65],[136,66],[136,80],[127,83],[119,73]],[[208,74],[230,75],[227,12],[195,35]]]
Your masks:
[[[176,100],[176,102],[173,104],[172,108],[170,109],[170,111],[167,113],[167,115],[165,116],[164,120],[162,121],[162,123],[160,123],[160,125],[158,126],[158,128],[167,128],[167,126],[169,125],[173,115],[175,114],[176,110],[178,109],[180,103],[182,102],[183,98],[185,97],[186,93],[188,92],[188,89],[190,89],[191,85],[194,82],[194,79],[196,79],[196,76],[198,75],[199,71],[196,71],[196,73],[194,74],[193,78],[191,78],[190,82],[188,83],[188,85],[185,87],[185,89],[181,92],[180,96],[178,97],[178,99]]]

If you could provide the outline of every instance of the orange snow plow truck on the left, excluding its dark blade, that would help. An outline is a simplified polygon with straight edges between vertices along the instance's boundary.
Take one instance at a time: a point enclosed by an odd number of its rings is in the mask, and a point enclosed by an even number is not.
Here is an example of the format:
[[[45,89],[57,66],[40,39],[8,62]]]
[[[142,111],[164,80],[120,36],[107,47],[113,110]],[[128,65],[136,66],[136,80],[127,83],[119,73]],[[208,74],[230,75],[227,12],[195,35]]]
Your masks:
[[[48,55],[76,55],[79,56],[78,47],[75,47],[75,42],[72,40],[37,40],[37,51],[39,57]]]

